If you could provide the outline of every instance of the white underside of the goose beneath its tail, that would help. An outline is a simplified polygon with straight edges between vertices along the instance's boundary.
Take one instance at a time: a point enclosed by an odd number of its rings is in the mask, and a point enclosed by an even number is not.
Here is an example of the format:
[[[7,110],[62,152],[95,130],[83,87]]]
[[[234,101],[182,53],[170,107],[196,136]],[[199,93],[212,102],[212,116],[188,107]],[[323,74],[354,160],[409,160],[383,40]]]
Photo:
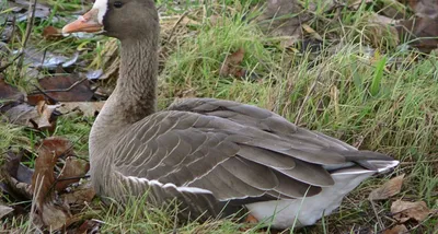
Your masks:
[[[322,218],[323,213],[331,214],[341,206],[343,198],[349,191],[372,174],[369,171],[332,174],[335,185],[323,188],[313,197],[255,202],[246,204],[246,208],[258,221],[270,224],[275,229],[312,225]]]

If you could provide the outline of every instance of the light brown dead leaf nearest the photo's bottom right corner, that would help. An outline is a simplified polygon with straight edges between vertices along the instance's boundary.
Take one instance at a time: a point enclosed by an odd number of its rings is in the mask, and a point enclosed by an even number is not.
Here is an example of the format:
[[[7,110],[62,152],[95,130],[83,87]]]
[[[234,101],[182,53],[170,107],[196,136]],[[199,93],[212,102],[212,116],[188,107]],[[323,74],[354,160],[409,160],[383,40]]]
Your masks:
[[[424,201],[411,202],[397,200],[392,203],[391,213],[393,218],[401,223],[411,219],[422,222],[429,215],[430,210]]]

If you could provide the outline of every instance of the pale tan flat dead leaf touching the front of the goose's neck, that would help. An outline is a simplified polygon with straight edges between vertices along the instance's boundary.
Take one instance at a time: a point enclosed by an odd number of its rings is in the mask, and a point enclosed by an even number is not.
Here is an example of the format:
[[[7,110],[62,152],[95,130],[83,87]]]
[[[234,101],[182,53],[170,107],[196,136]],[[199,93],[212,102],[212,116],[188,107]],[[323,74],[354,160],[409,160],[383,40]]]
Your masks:
[[[58,110],[62,115],[79,113],[85,117],[94,117],[101,112],[105,102],[71,102],[71,103],[60,103]]]

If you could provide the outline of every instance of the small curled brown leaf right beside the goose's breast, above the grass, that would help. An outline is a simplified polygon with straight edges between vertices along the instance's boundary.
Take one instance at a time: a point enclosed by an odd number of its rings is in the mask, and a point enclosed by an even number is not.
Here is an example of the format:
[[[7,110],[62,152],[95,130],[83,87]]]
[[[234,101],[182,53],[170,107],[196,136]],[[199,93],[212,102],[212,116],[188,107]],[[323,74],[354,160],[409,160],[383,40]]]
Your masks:
[[[90,164],[83,160],[67,157],[61,174],[58,176],[59,182],[56,184],[56,190],[61,191],[69,185],[79,182],[80,177],[83,177],[89,169]]]

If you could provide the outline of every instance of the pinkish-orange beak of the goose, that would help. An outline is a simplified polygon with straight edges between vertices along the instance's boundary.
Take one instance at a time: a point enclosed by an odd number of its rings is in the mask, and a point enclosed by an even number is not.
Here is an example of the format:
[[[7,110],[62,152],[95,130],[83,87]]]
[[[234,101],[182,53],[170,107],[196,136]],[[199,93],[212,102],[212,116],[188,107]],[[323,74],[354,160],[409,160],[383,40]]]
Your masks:
[[[78,20],[67,24],[62,27],[62,33],[96,33],[103,30],[103,25],[97,20],[97,9],[91,9],[84,15],[79,16]]]

